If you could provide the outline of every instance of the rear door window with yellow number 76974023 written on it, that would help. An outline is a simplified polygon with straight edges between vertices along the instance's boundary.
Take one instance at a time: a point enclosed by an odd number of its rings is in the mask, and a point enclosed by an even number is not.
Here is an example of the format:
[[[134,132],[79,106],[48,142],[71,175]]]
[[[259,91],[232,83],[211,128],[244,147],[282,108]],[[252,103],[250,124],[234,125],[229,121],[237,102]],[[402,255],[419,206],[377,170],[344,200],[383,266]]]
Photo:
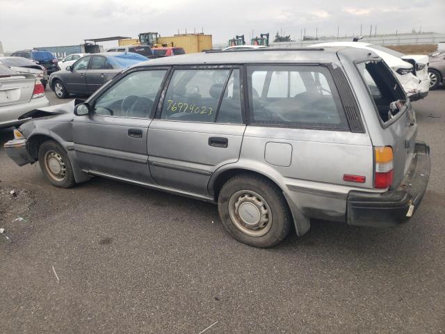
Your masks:
[[[230,72],[229,69],[175,70],[165,94],[161,119],[215,122],[218,105]],[[239,73],[237,75],[239,77]],[[236,99],[233,91],[232,97]],[[225,100],[223,109],[229,108],[228,90],[227,97],[223,100]],[[223,113],[226,114],[225,111]],[[220,117],[223,118],[223,114]]]

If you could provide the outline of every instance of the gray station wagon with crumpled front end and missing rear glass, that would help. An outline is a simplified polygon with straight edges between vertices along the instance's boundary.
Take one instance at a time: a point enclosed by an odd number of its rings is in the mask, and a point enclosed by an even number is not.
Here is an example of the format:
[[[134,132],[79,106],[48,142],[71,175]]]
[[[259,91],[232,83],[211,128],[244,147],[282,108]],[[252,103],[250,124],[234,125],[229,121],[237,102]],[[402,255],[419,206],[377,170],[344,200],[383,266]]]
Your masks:
[[[55,186],[92,175],[218,203],[234,238],[268,247],[311,218],[399,225],[426,191],[430,150],[376,54],[217,51],[125,70],[86,102],[27,113],[6,143]]]

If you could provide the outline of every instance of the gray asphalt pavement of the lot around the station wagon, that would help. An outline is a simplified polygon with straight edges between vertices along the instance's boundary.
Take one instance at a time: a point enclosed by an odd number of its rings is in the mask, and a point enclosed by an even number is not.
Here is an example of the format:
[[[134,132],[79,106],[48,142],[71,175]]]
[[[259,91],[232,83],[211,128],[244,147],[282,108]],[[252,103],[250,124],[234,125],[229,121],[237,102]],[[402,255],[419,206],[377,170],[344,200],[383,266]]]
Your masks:
[[[432,170],[409,223],[312,221],[266,250],[209,203],[99,177],[58,189],[0,148],[0,333],[444,333],[444,106],[444,87],[414,103]]]

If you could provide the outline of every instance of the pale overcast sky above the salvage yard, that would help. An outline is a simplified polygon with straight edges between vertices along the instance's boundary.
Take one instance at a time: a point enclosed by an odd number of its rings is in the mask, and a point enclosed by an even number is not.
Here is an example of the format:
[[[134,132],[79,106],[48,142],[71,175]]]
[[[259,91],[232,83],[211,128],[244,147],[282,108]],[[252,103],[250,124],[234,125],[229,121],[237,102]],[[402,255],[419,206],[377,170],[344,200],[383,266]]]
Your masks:
[[[410,33],[412,29],[445,33],[445,0],[0,0],[0,40],[5,51],[80,44],[86,38],[156,31],[172,35],[201,31],[213,43],[236,34],[283,30],[298,40],[307,35]],[[374,30],[374,29],[373,29]],[[115,42],[117,43],[117,42]],[[108,45],[107,45],[108,46]]]

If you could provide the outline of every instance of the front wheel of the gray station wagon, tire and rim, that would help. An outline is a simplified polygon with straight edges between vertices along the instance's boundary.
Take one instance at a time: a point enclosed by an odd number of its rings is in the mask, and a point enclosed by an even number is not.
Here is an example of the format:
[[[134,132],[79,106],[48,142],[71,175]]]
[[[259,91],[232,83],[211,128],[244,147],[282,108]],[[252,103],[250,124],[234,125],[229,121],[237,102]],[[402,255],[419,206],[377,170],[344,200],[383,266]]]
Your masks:
[[[76,184],[70,158],[58,143],[55,141],[44,141],[40,145],[38,158],[40,169],[51,184],[60,188],[70,188]],[[51,170],[51,167],[53,170]],[[60,168],[60,173],[55,173],[54,169],[58,167]]]

